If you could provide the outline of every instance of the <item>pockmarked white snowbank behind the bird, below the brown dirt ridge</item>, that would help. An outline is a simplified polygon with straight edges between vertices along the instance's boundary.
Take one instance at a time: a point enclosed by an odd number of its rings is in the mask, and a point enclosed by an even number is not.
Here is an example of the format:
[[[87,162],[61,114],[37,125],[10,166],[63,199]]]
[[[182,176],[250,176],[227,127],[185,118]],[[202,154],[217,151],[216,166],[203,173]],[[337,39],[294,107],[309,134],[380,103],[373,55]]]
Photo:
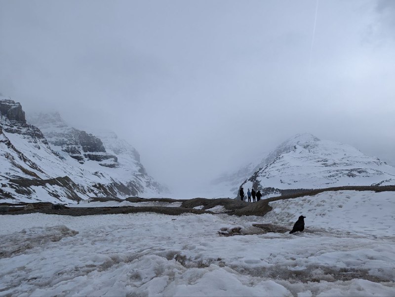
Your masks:
[[[300,215],[306,226],[327,231],[394,236],[395,192],[328,191],[315,196],[270,202],[269,222],[293,225]],[[309,228],[309,227],[307,227]],[[305,230],[307,231],[307,230]]]

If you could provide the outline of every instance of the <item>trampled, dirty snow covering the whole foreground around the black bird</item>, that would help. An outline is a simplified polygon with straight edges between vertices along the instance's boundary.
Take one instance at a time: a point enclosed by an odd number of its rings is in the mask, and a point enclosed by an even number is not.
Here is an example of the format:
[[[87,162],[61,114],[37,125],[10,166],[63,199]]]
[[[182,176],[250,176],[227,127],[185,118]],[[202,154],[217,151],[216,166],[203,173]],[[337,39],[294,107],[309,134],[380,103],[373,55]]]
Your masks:
[[[0,216],[0,296],[395,296],[395,192],[272,202],[265,217]],[[276,223],[305,232],[220,236]]]

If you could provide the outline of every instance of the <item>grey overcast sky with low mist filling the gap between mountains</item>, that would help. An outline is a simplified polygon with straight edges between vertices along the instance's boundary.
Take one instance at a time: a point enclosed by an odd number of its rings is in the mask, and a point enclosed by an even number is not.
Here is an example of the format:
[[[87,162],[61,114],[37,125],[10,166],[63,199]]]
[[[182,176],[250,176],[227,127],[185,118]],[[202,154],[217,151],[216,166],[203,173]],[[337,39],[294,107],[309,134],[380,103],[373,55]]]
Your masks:
[[[0,0],[0,92],[173,189],[304,132],[395,165],[395,1]]]

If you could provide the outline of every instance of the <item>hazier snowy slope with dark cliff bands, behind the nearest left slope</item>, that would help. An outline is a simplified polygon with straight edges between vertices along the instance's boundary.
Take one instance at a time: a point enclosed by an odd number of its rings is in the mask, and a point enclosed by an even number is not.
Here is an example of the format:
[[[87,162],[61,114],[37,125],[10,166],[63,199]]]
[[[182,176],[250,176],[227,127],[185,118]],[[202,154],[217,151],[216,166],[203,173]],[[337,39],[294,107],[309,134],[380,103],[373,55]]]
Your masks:
[[[95,172],[107,179],[107,184],[114,185],[116,193],[112,196],[157,197],[167,191],[165,186],[147,174],[140,163],[138,151],[114,132],[86,133],[70,127],[57,112],[40,113],[29,120],[40,128],[51,148],[66,160],[70,160],[69,157],[77,159],[84,170]],[[76,134],[89,136],[89,139],[84,139],[88,150],[84,149]]]

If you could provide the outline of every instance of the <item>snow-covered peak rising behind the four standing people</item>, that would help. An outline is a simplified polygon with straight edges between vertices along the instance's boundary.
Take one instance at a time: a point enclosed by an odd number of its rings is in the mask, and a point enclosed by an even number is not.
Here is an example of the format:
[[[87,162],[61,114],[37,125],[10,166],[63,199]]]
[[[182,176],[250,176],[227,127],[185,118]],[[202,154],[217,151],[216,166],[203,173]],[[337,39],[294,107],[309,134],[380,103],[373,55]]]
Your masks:
[[[352,146],[306,133],[280,144],[264,158],[212,183],[222,196],[253,186],[266,197],[331,186],[395,185],[395,168]],[[219,196],[219,195],[218,195]]]

